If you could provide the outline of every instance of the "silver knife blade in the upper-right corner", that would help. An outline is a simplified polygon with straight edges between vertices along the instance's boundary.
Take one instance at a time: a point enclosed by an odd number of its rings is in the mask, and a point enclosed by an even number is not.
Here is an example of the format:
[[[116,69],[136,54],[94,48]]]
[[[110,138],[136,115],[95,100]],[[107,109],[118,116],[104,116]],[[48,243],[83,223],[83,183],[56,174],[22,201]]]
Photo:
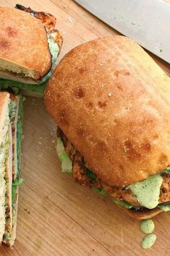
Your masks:
[[[165,0],[75,0],[170,64],[170,4]]]

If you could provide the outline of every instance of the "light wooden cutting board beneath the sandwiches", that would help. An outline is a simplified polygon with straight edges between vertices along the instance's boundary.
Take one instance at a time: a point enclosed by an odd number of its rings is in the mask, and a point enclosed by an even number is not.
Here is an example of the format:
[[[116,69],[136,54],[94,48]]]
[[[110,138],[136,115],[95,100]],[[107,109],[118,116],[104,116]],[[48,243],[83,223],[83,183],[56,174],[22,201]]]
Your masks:
[[[0,0],[14,6],[15,1]],[[71,48],[102,35],[117,34],[69,0],[19,1],[57,17],[64,43],[60,58]],[[168,32],[169,33],[169,32]],[[170,67],[154,57],[170,74]],[[156,244],[140,249],[139,222],[117,208],[109,197],[75,184],[61,174],[55,153],[56,126],[40,98],[24,102],[22,177],[19,188],[17,240],[0,255],[170,255],[170,213],[154,218]]]

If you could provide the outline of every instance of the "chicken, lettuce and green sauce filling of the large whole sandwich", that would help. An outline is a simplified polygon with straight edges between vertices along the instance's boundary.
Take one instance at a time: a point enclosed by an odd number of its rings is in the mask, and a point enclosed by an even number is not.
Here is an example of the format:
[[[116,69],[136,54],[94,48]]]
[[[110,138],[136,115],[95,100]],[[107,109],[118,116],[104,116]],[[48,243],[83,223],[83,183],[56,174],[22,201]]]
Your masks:
[[[102,195],[111,195],[116,204],[131,210],[143,208],[170,210],[170,199],[167,196],[170,189],[170,167],[142,182],[117,188],[105,184],[86,166],[84,158],[59,128],[57,153],[63,173],[71,174],[73,179],[84,187],[90,187]]]

